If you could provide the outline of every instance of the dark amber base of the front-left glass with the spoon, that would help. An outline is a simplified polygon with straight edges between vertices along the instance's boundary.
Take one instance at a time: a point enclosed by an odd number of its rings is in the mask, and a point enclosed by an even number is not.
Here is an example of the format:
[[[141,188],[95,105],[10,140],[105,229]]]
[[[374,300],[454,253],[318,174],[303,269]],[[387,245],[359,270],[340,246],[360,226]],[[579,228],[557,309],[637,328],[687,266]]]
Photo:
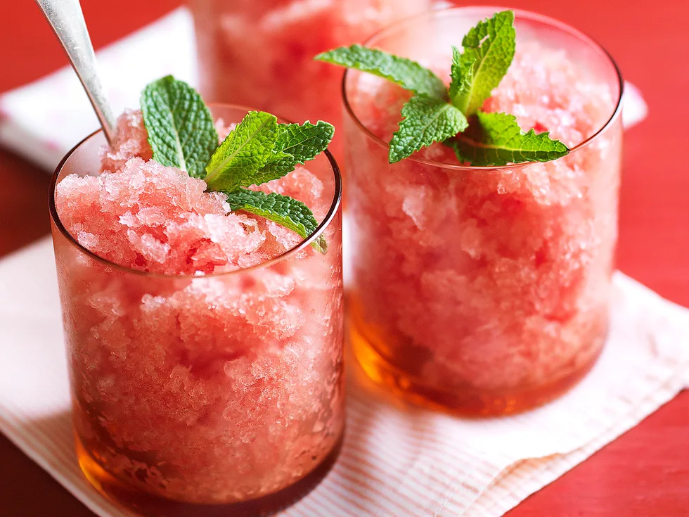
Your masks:
[[[321,461],[313,471],[304,476],[293,485],[273,492],[272,494],[257,497],[243,502],[229,504],[195,504],[165,499],[153,494],[142,492],[136,487],[124,483],[115,478],[101,467],[91,457],[81,440],[77,437],[77,459],[82,472],[86,475],[91,485],[108,499],[134,509],[144,516],[150,517],[259,517],[270,516],[306,496],[314,490],[318,483],[326,477],[333,468],[342,449],[344,431],[337,440],[333,450]]]

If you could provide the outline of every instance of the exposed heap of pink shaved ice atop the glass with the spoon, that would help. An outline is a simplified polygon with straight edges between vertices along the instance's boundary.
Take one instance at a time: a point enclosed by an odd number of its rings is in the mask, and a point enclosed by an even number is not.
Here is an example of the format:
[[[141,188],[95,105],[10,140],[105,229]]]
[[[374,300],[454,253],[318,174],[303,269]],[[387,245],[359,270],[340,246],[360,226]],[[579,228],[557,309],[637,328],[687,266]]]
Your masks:
[[[217,122],[221,139],[233,128]],[[262,217],[231,213],[226,196],[174,167],[150,160],[140,111],[117,123],[98,176],[65,177],[56,188],[60,220],[80,244],[110,262],[145,272],[208,274],[260,264],[302,238]],[[330,200],[306,167],[260,186],[306,203],[322,219]]]

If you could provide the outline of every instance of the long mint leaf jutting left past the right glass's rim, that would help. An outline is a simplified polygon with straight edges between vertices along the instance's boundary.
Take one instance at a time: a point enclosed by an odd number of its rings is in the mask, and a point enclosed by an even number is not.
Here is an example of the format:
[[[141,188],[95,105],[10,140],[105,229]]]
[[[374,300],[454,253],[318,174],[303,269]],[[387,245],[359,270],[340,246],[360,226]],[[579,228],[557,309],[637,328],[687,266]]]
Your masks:
[[[341,46],[318,54],[314,59],[370,72],[399,84],[417,95],[447,98],[445,84],[433,72],[416,61],[393,56],[378,49],[368,49],[361,45]]]

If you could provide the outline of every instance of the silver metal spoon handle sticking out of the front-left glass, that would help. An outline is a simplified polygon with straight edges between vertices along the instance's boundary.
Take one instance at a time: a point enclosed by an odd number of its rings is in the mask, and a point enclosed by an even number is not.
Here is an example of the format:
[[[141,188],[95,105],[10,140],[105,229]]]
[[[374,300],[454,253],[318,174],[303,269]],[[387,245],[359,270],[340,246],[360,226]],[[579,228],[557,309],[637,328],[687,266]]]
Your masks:
[[[36,3],[70,58],[72,68],[77,72],[77,77],[82,82],[91,105],[94,106],[105,138],[112,142],[115,127],[112,110],[98,77],[96,53],[91,44],[89,30],[86,29],[79,0],[36,0]]]

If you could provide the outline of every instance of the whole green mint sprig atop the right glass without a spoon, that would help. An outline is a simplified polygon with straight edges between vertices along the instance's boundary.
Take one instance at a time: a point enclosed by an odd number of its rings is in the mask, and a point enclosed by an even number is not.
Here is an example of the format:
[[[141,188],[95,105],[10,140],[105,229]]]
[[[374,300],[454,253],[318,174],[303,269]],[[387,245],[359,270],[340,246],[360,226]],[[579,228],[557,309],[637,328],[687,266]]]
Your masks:
[[[385,77],[415,93],[402,107],[399,131],[390,141],[390,163],[443,142],[458,159],[479,167],[556,160],[569,153],[548,133],[524,133],[512,115],[480,108],[506,75],[515,54],[513,11],[480,21],[452,47],[449,89],[416,61],[360,45],[318,54],[317,60]]]

